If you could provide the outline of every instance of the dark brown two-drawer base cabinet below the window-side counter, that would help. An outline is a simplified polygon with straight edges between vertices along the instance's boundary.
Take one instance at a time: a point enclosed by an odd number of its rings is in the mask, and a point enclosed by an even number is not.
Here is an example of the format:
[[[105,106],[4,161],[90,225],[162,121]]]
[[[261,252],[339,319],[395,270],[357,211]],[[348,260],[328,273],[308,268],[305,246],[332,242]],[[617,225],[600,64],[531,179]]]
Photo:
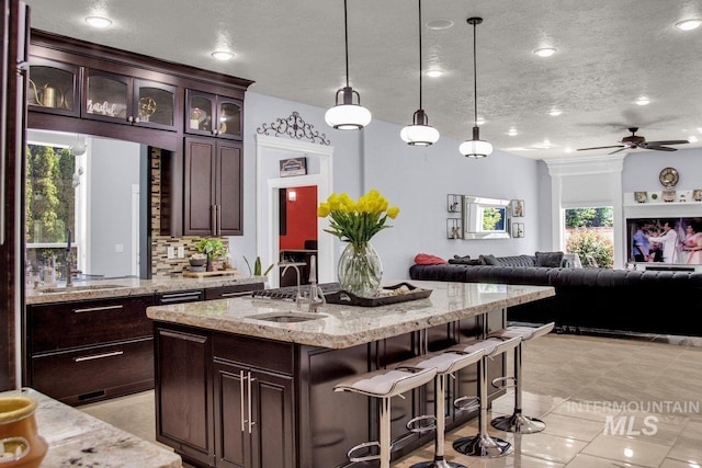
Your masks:
[[[25,384],[73,406],[154,388],[151,305],[152,295],[27,306]]]

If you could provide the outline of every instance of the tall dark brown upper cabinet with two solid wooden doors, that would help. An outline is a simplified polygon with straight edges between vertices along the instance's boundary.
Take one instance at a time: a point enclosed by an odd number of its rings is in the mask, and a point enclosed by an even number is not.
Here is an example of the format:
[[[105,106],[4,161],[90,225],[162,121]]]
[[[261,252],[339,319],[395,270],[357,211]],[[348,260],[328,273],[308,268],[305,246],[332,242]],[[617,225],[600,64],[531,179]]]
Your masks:
[[[185,138],[185,236],[241,236],[242,144]]]

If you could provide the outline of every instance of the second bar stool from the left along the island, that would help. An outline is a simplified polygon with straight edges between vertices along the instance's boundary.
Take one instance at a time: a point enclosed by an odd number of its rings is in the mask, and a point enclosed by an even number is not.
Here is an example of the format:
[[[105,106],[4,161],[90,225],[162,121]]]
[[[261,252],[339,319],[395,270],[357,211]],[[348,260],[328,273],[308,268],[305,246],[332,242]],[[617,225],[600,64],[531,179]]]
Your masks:
[[[434,435],[434,459],[432,461],[420,461],[412,465],[410,468],[465,468],[464,465],[460,465],[453,461],[446,461],[444,458],[444,441],[445,441],[445,404],[446,404],[446,377],[450,374],[455,373],[456,370],[461,370],[464,367],[467,367],[472,364],[480,361],[483,355],[485,354],[484,350],[473,350],[466,352],[457,347],[450,347],[444,351],[439,351],[435,353],[427,354],[423,356],[418,356],[416,358],[406,361],[405,364],[427,368],[427,367],[435,367],[437,376],[434,377],[434,415],[421,415],[410,420],[407,423],[407,429],[412,432],[424,432],[432,429],[435,429]],[[417,422],[421,422],[427,419],[432,419],[434,421],[433,425],[430,426],[421,426],[418,429],[414,429],[414,425]]]

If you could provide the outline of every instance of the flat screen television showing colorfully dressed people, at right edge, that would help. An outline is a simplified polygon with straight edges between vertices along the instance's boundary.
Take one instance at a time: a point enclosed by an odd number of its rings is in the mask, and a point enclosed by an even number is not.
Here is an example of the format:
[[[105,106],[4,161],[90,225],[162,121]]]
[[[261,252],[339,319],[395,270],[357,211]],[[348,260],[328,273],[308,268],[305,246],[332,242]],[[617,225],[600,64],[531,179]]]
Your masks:
[[[702,251],[689,251],[686,244],[702,244],[702,217],[650,217],[650,218],[629,218],[626,219],[626,259],[629,262],[637,263],[634,259],[634,233],[641,226],[644,232],[650,237],[663,235],[663,226],[668,226],[677,233],[675,246],[675,259],[665,259],[663,254],[661,242],[650,241],[649,261],[646,263],[655,263],[660,266],[668,264],[675,265],[700,265],[702,264]],[[692,229],[688,229],[691,227]],[[654,267],[654,265],[650,265]]]

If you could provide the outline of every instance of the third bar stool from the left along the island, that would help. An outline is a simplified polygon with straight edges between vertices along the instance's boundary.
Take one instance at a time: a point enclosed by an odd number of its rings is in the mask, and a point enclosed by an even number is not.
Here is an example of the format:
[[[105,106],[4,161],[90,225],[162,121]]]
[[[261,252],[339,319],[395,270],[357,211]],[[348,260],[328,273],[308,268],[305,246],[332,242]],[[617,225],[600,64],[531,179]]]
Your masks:
[[[471,344],[464,349],[469,353],[475,350],[484,350],[485,354],[478,362],[478,403],[480,410],[478,412],[478,433],[469,437],[461,437],[453,442],[453,448],[463,454],[475,457],[496,458],[508,455],[512,452],[512,444],[498,437],[491,437],[488,434],[487,424],[487,361],[492,357],[513,350],[521,342],[521,336],[498,338],[489,336],[484,341]],[[466,400],[468,397],[458,398],[454,401],[454,406],[458,409],[457,403]]]

